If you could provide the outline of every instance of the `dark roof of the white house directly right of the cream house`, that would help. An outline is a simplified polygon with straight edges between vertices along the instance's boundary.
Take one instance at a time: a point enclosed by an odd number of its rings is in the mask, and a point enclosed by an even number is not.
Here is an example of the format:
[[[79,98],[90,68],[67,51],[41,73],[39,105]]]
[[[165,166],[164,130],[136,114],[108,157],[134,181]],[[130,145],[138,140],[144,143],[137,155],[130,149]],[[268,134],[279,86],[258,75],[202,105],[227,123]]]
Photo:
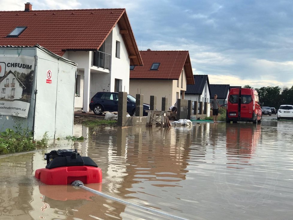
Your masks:
[[[208,75],[193,75],[194,85],[186,85],[185,94],[201,95],[203,94],[203,88],[208,82],[209,93],[211,94],[210,83]]]

